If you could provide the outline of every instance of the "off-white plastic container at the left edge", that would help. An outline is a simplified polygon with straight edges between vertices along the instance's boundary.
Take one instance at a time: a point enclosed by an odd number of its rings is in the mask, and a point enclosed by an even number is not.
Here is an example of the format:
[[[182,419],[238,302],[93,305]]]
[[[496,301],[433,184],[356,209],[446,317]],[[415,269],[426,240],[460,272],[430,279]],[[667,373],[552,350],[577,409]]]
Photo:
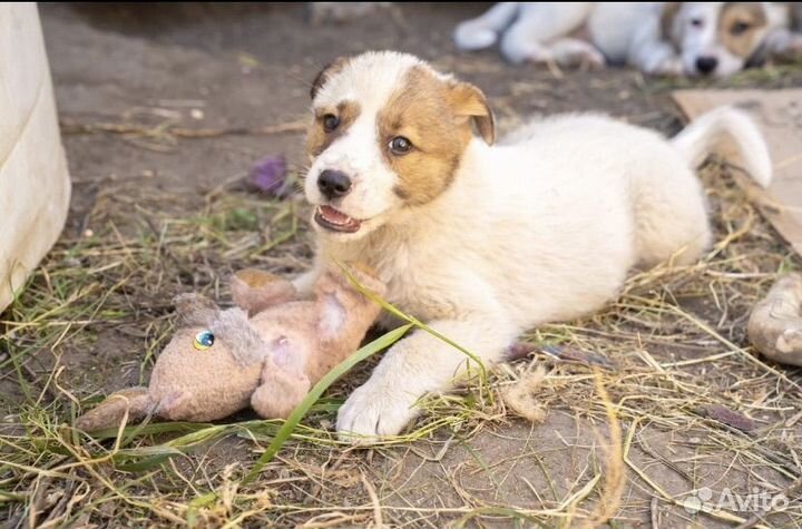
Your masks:
[[[0,3],[0,311],[63,228],[70,180],[35,3]]]

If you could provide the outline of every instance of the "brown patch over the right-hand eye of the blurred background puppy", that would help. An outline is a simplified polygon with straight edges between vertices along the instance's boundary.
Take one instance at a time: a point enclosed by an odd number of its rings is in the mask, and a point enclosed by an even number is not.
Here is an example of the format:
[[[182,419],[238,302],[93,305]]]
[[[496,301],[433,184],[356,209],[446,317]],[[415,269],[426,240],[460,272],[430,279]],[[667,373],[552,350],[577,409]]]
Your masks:
[[[760,2],[728,2],[718,19],[718,38],[727,51],[747,59],[760,46],[766,25]]]

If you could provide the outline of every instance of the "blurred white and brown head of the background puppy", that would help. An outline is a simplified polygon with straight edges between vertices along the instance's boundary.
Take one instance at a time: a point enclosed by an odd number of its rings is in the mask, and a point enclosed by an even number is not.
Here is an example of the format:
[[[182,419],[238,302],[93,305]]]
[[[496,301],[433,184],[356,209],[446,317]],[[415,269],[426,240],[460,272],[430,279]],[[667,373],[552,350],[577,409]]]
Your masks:
[[[744,68],[769,31],[761,2],[667,2],[663,36],[688,76],[727,77]]]

